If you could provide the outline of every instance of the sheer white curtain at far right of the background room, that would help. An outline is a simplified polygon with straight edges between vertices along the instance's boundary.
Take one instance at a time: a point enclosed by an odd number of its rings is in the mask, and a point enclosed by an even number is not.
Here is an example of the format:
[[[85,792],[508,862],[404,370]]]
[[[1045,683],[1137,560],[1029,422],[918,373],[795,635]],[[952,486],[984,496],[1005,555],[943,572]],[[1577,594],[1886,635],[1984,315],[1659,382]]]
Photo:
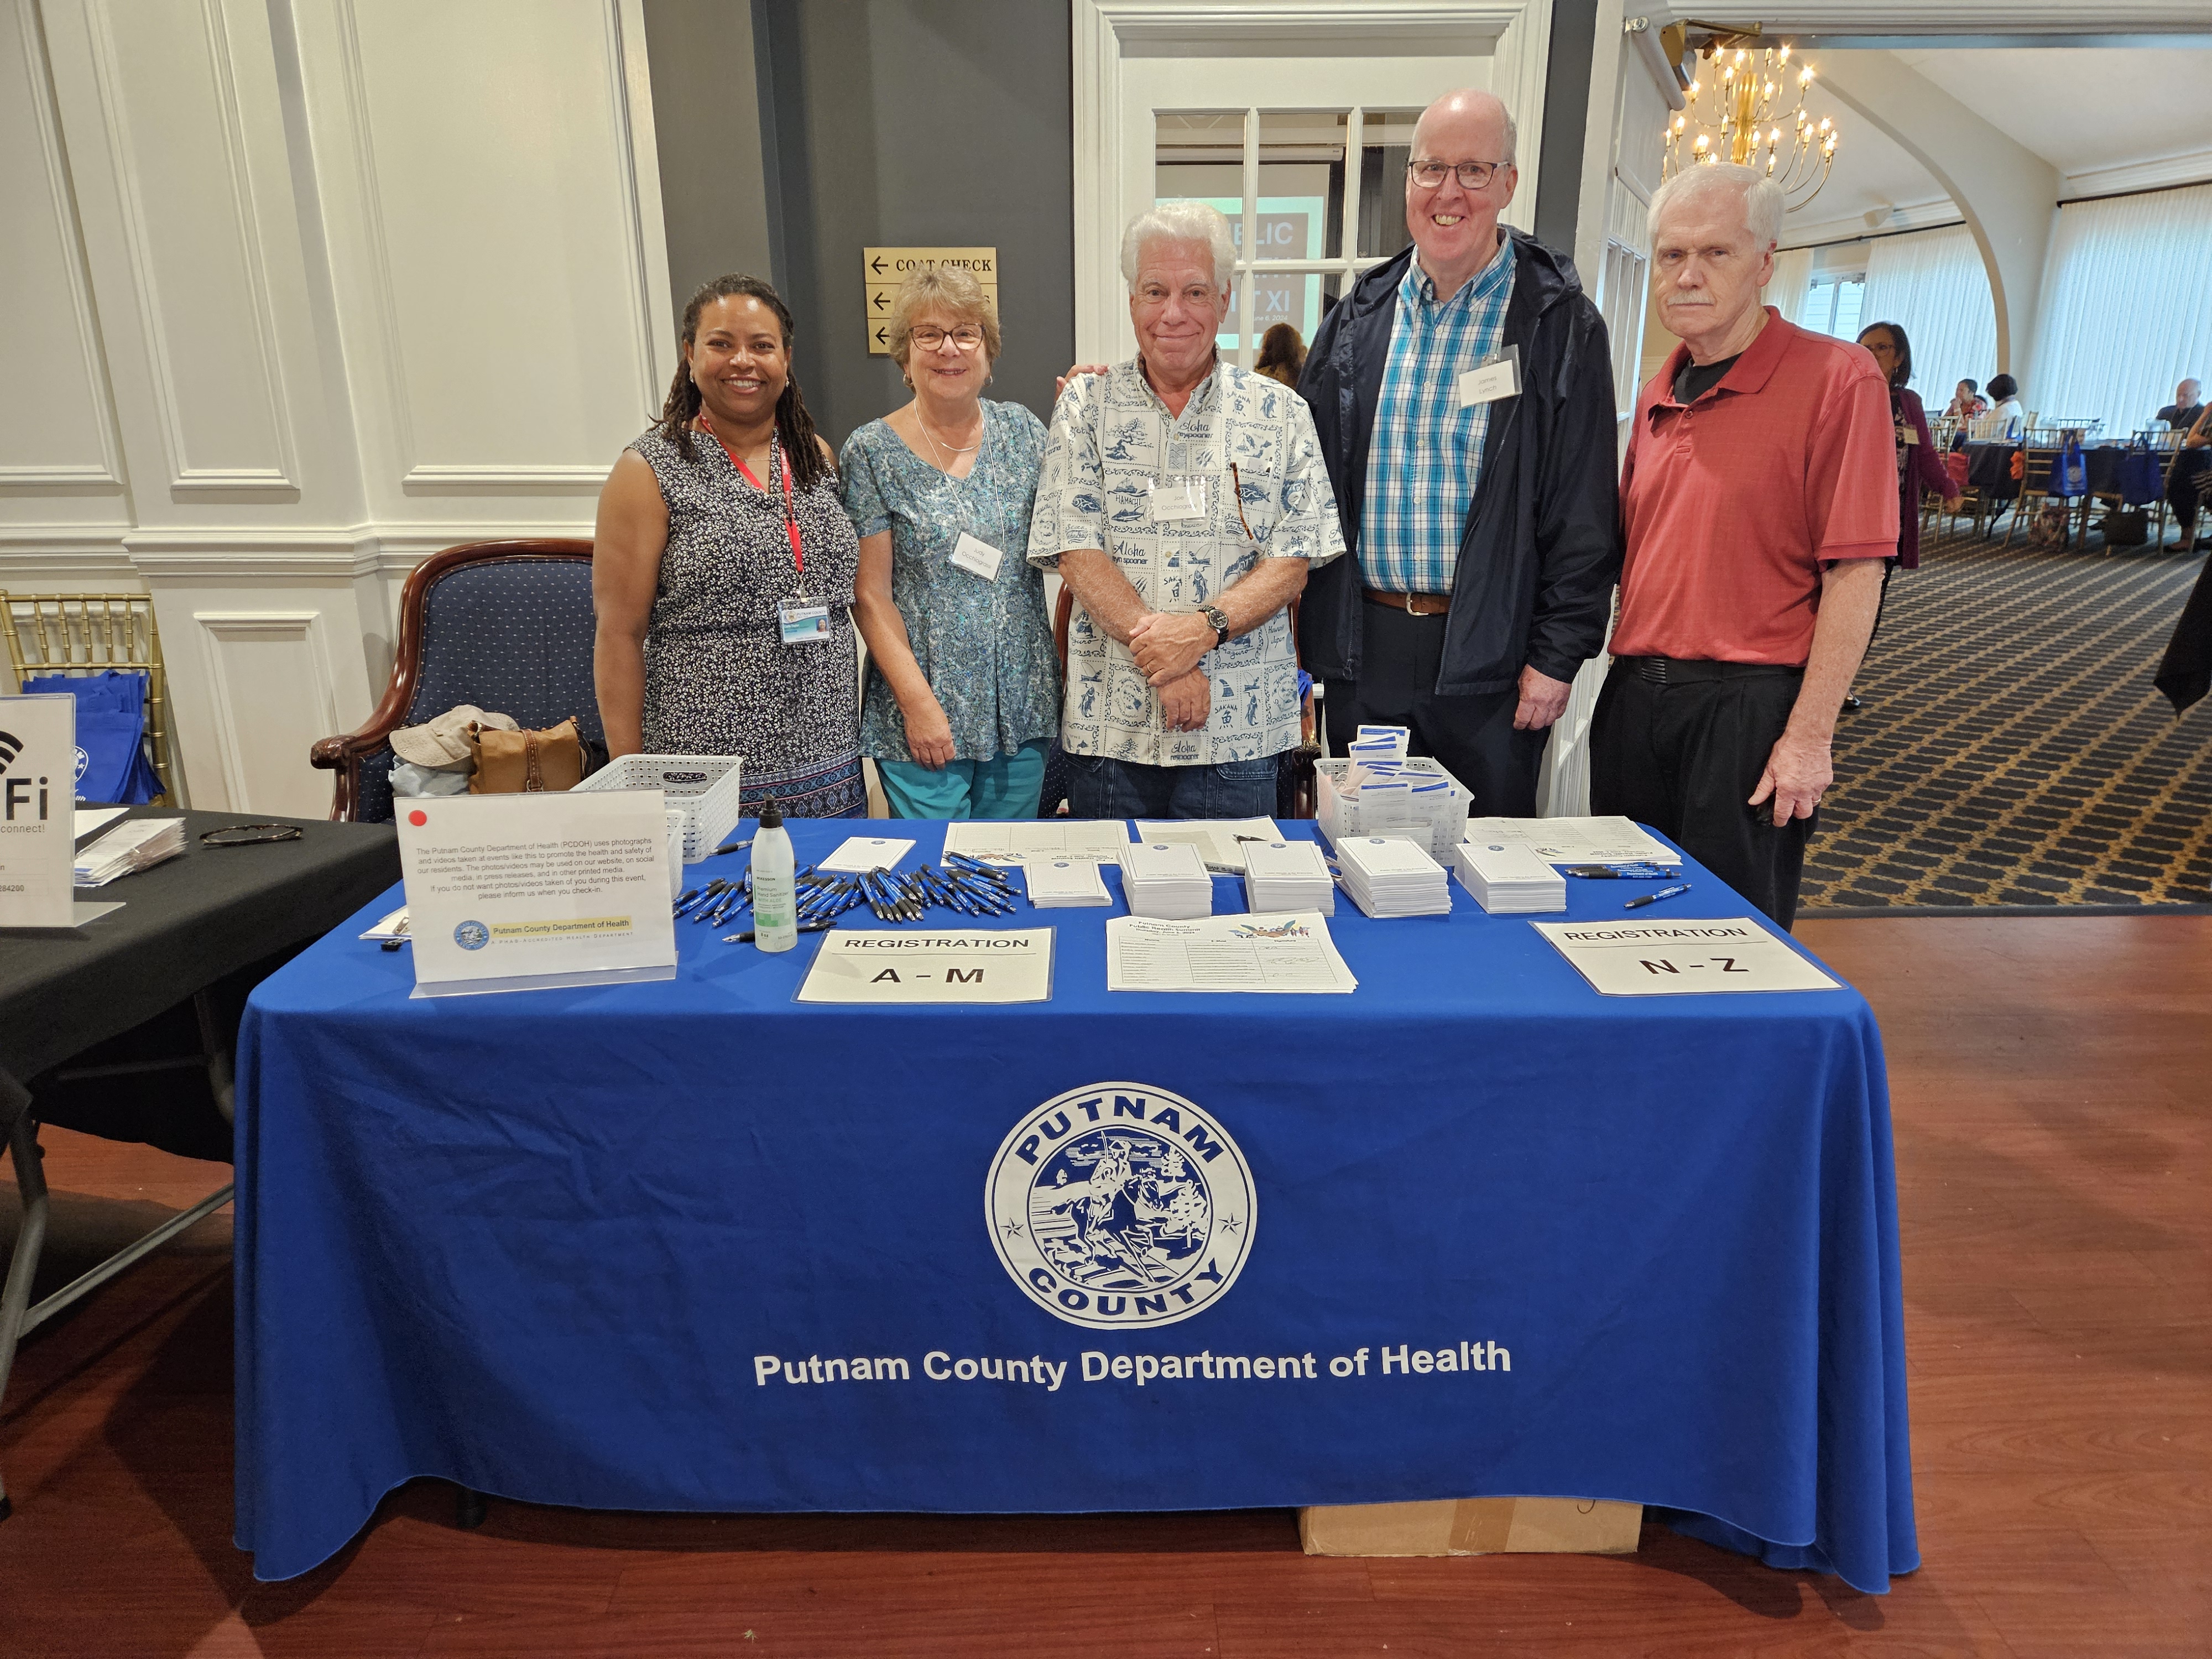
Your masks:
[[[2188,376],[2212,378],[2212,184],[2062,204],[2022,400],[2126,436]]]

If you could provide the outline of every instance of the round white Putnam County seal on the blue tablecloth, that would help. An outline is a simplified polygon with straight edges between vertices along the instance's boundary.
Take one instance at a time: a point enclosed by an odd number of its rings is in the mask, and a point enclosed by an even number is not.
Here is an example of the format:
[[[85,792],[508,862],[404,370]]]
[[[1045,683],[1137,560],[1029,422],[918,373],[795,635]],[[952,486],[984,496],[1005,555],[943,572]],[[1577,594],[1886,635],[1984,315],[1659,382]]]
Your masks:
[[[1221,1298],[1252,1250],[1256,1208],[1237,1141],[1150,1084],[1044,1102],[1000,1144],[984,1183],[1013,1283],[1095,1329],[1172,1325]]]

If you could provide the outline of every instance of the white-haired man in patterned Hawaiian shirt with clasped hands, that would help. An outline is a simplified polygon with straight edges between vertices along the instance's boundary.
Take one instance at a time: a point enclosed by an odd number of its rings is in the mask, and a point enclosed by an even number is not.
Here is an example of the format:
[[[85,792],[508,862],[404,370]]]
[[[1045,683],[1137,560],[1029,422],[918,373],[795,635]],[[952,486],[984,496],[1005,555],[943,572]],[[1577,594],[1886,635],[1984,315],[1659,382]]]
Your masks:
[[[1029,562],[1075,593],[1077,818],[1272,814],[1298,743],[1285,606],[1345,535],[1305,398],[1214,354],[1234,265],[1203,201],[1139,212],[1121,234],[1137,356],[1053,409]]]

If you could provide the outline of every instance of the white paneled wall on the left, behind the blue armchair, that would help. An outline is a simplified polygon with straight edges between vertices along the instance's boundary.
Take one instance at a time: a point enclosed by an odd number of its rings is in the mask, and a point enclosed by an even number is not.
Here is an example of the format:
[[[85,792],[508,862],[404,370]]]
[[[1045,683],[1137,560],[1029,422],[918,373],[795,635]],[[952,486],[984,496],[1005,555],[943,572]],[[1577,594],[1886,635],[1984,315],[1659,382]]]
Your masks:
[[[0,0],[0,588],[153,593],[192,805],[316,814],[456,542],[675,367],[641,0]]]

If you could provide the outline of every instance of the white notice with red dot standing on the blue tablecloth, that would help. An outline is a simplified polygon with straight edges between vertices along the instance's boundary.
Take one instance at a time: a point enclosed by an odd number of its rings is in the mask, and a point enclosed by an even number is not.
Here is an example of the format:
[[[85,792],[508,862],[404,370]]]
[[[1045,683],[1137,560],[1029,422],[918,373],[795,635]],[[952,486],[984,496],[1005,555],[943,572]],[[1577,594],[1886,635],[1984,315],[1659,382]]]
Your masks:
[[[403,801],[418,998],[677,975],[659,790]]]

